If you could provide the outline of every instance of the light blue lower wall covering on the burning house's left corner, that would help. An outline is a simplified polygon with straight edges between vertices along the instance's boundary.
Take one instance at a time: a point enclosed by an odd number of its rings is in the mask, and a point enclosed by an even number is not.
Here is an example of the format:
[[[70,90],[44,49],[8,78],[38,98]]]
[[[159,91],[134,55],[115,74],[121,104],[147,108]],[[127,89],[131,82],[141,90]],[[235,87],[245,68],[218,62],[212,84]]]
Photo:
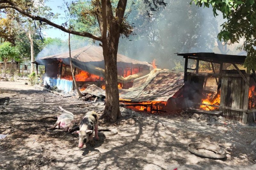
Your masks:
[[[63,90],[64,92],[70,92],[73,90],[73,81],[70,80],[45,77],[44,85],[46,84],[50,85],[51,87],[56,85],[58,89]]]

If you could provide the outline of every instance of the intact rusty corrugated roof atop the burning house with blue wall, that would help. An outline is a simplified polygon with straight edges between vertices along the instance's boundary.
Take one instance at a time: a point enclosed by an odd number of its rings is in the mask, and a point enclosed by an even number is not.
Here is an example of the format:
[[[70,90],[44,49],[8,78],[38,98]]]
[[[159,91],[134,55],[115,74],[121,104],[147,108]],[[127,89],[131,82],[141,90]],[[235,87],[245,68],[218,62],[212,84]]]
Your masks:
[[[40,60],[46,60],[46,59],[56,59],[56,58],[68,58],[69,52],[56,54],[56,55],[50,55],[46,57],[40,58]],[[104,61],[103,57],[103,50],[102,47],[99,46],[86,46],[83,48],[78,48],[71,51],[71,57],[72,59],[76,59],[80,62],[101,62]],[[121,55],[117,53],[117,62],[123,62],[123,63],[132,63],[132,64],[142,64],[151,66],[148,64],[148,62],[141,62],[138,60],[134,60],[132,58],[129,58],[125,55]]]

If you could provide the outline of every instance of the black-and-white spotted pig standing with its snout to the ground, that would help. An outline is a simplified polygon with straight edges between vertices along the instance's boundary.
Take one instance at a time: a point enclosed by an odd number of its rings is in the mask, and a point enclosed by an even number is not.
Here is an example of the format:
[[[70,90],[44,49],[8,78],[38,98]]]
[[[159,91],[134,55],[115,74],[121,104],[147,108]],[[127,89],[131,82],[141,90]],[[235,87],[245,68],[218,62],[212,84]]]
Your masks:
[[[80,122],[79,130],[73,132],[79,134],[79,148],[82,148],[84,144],[86,144],[88,141],[90,141],[91,145],[93,145],[93,130],[95,132],[96,139],[99,140],[98,120],[99,115],[94,111],[90,111],[85,114],[85,116]]]

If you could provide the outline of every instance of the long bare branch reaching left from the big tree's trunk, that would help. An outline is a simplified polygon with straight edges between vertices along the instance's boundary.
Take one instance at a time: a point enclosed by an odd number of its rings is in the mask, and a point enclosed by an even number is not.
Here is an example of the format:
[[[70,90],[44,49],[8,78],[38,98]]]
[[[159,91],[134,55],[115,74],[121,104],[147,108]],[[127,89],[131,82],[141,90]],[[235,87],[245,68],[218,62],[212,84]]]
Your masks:
[[[96,36],[96,35],[92,35],[91,33],[87,33],[87,32],[78,32],[78,31],[73,31],[73,30],[70,30],[70,29],[66,29],[65,27],[63,26],[60,26],[58,24],[55,24],[51,21],[49,21],[48,19],[46,18],[42,18],[42,17],[39,17],[39,16],[35,16],[35,15],[32,15],[26,11],[24,11],[23,9],[21,9],[20,7],[17,7],[15,4],[13,4],[12,2],[8,2],[8,0],[0,0],[0,3],[8,3],[10,5],[4,5],[4,6],[0,6],[0,9],[5,9],[5,8],[12,8],[18,12],[20,12],[21,14],[29,17],[29,18],[32,18],[33,20],[38,20],[38,21],[42,21],[42,22],[45,22],[47,23],[48,25],[50,26],[53,26],[55,28],[58,28],[60,29],[61,31],[65,32],[65,33],[71,33],[71,34],[74,34],[74,35],[79,35],[79,36],[83,36],[83,37],[88,37],[88,38],[92,38],[94,40],[97,40],[97,41],[102,41],[102,38],[99,37],[99,36]]]

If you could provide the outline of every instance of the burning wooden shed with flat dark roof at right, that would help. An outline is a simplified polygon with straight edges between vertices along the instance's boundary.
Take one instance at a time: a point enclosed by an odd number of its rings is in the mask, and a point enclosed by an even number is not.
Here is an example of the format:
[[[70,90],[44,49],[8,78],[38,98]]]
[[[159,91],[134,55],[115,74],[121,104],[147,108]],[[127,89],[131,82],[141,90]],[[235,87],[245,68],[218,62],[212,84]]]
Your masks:
[[[219,111],[226,118],[254,122],[256,113],[255,70],[240,70],[246,56],[215,53],[180,53],[185,58],[183,99],[187,107]],[[199,72],[199,62],[209,63],[212,72]],[[190,64],[189,64],[190,63]],[[194,63],[194,64],[191,64]],[[227,70],[225,65],[233,67]],[[190,65],[190,68],[189,68]],[[194,65],[194,68],[191,66]],[[213,88],[207,88],[208,82]],[[215,85],[215,88],[214,88]],[[214,112],[212,112],[214,113]]]

